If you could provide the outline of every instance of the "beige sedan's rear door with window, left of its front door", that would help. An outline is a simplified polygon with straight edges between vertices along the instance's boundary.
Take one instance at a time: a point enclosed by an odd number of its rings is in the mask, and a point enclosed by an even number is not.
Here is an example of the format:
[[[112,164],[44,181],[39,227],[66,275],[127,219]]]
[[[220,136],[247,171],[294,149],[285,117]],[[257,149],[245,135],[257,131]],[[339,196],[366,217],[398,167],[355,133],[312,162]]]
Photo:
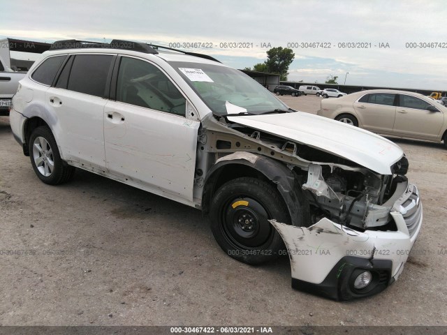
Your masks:
[[[353,103],[362,128],[374,133],[392,134],[396,116],[396,94],[365,94]]]

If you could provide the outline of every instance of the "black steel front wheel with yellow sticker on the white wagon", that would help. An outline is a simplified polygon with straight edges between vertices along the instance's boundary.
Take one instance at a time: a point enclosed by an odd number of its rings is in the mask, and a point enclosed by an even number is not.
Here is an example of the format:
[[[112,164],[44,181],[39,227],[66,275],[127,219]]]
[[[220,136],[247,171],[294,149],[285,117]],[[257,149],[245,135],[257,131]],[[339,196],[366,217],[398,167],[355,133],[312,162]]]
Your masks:
[[[291,222],[277,190],[256,178],[228,181],[212,199],[214,238],[227,255],[240,262],[258,265],[278,257],[284,242],[268,222],[270,218]]]

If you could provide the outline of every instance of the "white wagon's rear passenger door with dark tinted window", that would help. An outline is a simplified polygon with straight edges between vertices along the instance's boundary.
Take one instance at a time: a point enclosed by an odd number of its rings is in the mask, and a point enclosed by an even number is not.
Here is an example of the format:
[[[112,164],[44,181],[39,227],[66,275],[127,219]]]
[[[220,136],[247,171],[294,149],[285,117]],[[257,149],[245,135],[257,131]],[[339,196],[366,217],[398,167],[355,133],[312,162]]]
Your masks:
[[[66,161],[105,168],[103,113],[108,77],[116,56],[72,55],[45,105],[57,115],[58,144]]]

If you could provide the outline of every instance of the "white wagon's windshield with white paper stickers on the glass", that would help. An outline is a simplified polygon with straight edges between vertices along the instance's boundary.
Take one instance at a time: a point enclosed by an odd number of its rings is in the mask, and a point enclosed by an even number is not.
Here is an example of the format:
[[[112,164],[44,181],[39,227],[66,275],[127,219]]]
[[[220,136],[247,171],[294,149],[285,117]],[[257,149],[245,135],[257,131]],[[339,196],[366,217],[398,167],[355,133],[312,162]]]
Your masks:
[[[233,114],[235,110],[249,114],[288,110],[268,89],[240,70],[203,63],[170,61],[169,64],[182,75],[214,114]]]

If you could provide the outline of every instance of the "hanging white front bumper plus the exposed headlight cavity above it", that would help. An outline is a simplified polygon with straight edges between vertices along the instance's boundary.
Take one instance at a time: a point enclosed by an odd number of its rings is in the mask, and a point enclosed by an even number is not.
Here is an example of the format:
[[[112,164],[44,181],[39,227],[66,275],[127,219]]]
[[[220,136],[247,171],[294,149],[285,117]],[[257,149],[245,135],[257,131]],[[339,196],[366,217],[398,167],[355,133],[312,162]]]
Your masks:
[[[337,300],[374,295],[397,280],[420,230],[418,188],[403,174],[309,165],[302,185],[312,208],[309,228],[270,221],[291,260],[292,286]]]

